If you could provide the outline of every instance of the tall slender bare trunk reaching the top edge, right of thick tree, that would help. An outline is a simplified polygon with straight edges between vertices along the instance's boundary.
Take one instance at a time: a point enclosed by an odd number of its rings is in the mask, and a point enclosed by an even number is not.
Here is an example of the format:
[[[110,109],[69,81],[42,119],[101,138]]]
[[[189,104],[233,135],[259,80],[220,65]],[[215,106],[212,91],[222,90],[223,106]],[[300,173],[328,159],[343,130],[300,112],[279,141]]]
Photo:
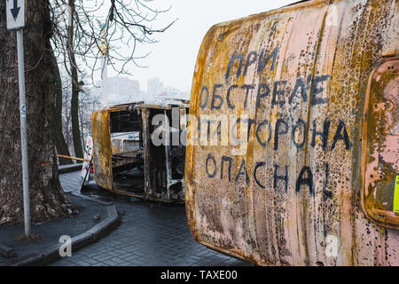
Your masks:
[[[72,136],[74,139],[74,155],[82,158],[82,140],[81,130],[79,128],[79,88],[76,59],[74,57],[74,0],[69,0],[69,7],[71,9],[70,26],[68,27],[67,49],[69,56],[69,63],[71,65],[72,75],[72,99],[71,99],[71,116],[72,116]]]

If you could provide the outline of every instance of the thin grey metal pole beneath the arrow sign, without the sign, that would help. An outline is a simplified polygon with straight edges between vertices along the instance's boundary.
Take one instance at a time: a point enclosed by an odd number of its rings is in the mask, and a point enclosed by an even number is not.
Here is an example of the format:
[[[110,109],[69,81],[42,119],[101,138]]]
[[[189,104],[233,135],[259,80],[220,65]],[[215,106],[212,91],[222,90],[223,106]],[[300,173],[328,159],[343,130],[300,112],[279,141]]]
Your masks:
[[[25,99],[25,67],[23,29],[17,30],[18,83],[20,87],[20,141],[22,152],[22,185],[24,190],[25,235],[30,235],[29,174],[27,170],[27,104]]]

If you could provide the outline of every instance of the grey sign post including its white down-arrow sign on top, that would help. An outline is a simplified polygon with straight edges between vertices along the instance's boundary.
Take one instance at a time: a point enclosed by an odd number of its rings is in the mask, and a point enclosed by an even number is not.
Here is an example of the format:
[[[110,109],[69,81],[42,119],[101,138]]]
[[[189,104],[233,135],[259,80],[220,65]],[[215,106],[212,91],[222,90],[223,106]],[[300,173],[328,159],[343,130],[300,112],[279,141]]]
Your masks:
[[[7,29],[17,30],[18,83],[20,90],[20,139],[24,191],[25,235],[30,235],[29,174],[27,168],[27,103],[25,99],[24,38],[25,0],[5,0]]]

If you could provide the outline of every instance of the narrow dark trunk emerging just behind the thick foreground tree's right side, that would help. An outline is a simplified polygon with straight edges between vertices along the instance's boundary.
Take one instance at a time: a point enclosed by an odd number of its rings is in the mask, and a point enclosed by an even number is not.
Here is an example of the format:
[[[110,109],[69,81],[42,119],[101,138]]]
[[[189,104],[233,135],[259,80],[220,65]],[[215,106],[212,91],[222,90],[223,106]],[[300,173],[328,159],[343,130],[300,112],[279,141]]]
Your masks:
[[[54,53],[51,54],[52,67],[54,72],[55,83],[54,93],[56,95],[55,105],[54,105],[54,140],[57,148],[58,154],[65,154],[70,156],[68,146],[66,145],[66,141],[64,138],[64,134],[62,133],[62,81],[61,75],[59,74],[59,66],[57,64],[57,59],[54,56]],[[72,160],[59,158],[59,163],[61,165],[71,164]]]

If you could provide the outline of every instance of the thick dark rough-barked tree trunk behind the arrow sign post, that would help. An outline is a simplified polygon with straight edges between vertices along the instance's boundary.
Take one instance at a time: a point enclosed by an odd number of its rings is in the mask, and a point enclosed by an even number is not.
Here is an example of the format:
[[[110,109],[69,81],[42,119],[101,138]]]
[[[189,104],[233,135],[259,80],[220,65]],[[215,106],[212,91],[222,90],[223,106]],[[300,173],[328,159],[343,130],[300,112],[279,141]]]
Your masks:
[[[23,221],[20,105],[15,31],[5,26],[0,1],[0,224]],[[33,222],[65,217],[67,204],[59,184],[53,132],[51,20],[48,0],[27,2],[24,28],[27,91],[27,151]]]

